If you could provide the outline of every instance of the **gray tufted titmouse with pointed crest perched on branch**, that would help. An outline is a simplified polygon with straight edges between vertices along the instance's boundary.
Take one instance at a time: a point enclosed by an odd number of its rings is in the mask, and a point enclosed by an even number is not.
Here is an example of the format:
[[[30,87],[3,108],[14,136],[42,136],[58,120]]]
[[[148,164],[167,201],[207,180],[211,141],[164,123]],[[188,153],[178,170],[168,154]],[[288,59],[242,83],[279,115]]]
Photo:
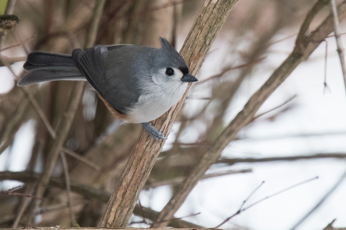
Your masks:
[[[124,123],[142,123],[156,140],[167,139],[149,121],[160,117],[198,81],[174,47],[161,38],[161,49],[136,45],[74,49],[71,55],[35,51],[24,63],[28,72],[17,85],[44,81],[88,81],[111,113]]]

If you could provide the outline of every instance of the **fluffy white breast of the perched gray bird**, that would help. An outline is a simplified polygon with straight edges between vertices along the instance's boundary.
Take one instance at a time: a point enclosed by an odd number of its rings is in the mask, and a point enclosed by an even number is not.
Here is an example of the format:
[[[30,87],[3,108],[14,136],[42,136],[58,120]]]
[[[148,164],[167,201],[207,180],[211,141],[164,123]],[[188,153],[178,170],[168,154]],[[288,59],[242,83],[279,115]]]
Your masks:
[[[157,86],[155,90],[142,94],[138,103],[128,112],[129,122],[143,123],[155,120],[182,98],[188,83]]]

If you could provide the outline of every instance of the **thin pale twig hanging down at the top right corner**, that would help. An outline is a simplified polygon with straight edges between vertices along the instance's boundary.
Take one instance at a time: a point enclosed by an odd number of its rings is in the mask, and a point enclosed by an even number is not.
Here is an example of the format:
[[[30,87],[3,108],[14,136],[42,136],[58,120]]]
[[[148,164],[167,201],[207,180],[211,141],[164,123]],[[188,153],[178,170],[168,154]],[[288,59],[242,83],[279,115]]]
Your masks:
[[[340,37],[340,32],[341,32],[340,31],[340,23],[339,23],[338,10],[336,8],[335,0],[330,1],[330,6],[331,6],[331,12],[333,13],[336,46],[337,46],[337,51],[339,53],[341,69],[343,71],[345,90],[346,90],[346,66],[345,66],[345,58],[344,58],[344,46],[343,46],[343,42],[342,42],[341,37]]]

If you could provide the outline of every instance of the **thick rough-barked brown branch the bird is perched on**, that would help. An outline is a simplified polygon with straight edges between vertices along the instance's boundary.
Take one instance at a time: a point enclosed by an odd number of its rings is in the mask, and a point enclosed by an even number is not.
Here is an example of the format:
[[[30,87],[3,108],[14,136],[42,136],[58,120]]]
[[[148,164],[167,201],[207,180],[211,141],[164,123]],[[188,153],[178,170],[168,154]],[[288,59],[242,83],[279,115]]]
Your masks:
[[[198,73],[211,44],[236,2],[237,0],[206,0],[204,2],[180,51],[190,68],[191,74],[196,75]],[[189,84],[183,99],[177,105],[153,122],[153,125],[158,130],[163,131],[166,135],[169,134],[177,113],[191,87],[192,84]],[[107,209],[98,225],[99,227],[127,226],[139,193],[149,177],[149,173],[162,150],[164,142],[164,140],[156,141],[142,129],[139,142],[131,152],[129,161],[117,182],[111,199],[107,204]]]

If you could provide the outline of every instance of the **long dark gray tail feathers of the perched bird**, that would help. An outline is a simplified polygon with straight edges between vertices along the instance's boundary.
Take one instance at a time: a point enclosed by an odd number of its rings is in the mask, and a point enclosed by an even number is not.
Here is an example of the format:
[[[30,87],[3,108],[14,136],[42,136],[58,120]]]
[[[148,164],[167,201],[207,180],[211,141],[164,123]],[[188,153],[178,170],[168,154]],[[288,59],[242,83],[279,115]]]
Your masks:
[[[23,67],[27,73],[18,81],[18,86],[57,80],[86,81],[72,56],[67,54],[35,51],[28,54]]]

